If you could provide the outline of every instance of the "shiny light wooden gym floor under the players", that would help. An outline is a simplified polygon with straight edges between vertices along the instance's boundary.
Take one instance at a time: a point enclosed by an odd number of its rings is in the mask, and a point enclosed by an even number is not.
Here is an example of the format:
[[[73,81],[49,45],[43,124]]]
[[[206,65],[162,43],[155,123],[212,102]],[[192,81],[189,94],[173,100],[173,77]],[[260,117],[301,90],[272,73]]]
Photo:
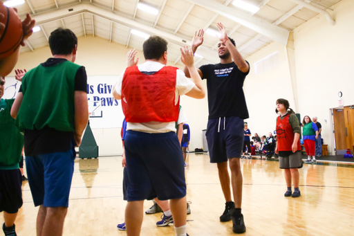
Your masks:
[[[127,235],[117,224],[124,221],[122,158],[76,159],[64,235]],[[301,197],[283,197],[283,172],[277,161],[241,160],[243,235],[354,235],[354,165],[318,163],[300,170]],[[207,154],[187,158],[187,217],[191,236],[234,235],[232,222],[221,223],[225,200],[215,164]],[[37,208],[28,181],[23,184],[24,206],[19,210],[17,235],[35,235]],[[145,210],[151,206],[145,201]],[[2,214],[1,219],[2,219]],[[145,215],[141,235],[174,235],[174,227],[156,227],[161,213]]]

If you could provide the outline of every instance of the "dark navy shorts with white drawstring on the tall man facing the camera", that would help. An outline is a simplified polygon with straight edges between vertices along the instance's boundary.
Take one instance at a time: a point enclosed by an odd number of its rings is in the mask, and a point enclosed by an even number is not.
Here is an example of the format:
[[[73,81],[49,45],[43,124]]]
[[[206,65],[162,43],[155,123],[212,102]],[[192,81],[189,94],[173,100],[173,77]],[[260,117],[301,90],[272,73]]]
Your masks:
[[[230,116],[207,122],[207,147],[211,163],[222,163],[228,158],[240,158],[243,147],[243,119]]]

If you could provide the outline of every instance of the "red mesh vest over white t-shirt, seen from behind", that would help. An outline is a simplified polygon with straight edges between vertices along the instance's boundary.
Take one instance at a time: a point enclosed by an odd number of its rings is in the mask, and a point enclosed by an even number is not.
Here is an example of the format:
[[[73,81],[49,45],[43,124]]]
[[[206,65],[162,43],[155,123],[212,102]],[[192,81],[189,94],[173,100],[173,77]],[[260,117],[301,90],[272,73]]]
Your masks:
[[[122,109],[127,122],[173,122],[178,120],[179,98],[175,105],[176,70],[164,66],[147,75],[138,66],[125,70],[122,81]]]

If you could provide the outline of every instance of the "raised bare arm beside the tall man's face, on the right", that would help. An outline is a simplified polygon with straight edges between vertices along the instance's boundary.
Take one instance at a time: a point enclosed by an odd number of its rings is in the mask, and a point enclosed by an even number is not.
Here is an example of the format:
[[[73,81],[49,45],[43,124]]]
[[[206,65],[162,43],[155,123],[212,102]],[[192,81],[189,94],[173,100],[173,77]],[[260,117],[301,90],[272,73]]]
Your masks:
[[[223,41],[225,43],[225,46],[227,46],[227,48],[229,49],[232,60],[234,60],[236,66],[239,67],[239,70],[243,73],[248,72],[250,66],[243,59],[234,44],[232,44],[230,39],[227,37],[225,26],[223,26],[223,24],[221,23],[218,23],[218,29],[220,30],[220,40]]]

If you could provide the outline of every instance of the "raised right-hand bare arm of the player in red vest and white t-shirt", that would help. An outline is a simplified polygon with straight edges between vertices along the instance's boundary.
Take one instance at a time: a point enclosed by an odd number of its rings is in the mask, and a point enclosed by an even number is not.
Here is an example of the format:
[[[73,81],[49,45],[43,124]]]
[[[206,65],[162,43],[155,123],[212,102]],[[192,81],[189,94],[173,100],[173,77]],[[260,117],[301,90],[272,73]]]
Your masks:
[[[189,71],[189,75],[191,76],[191,80],[194,82],[194,84],[196,84],[194,85],[193,89],[185,95],[191,98],[202,99],[205,97],[205,87],[202,82],[201,75],[199,75],[196,66],[194,66],[193,53],[187,46],[180,48],[180,52],[182,53],[180,60],[183,62],[183,64],[185,64]]]

